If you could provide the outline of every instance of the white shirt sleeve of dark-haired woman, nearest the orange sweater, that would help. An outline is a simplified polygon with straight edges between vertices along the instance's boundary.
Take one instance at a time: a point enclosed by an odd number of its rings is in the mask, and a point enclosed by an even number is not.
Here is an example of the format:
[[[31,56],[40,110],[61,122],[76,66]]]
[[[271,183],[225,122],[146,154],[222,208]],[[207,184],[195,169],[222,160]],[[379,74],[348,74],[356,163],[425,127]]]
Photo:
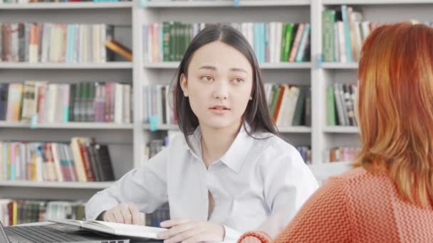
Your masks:
[[[264,196],[271,216],[263,222],[259,230],[273,238],[286,227],[303,203],[317,190],[318,183],[301,154],[293,146],[277,158],[266,159],[266,164],[262,165]]]

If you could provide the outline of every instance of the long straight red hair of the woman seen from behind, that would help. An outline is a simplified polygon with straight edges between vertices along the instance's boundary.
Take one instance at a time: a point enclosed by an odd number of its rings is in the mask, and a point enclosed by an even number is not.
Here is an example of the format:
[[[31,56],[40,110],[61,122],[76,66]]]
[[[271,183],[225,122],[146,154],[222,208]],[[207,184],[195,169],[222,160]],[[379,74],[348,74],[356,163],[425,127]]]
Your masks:
[[[362,46],[356,106],[362,150],[358,166],[385,168],[398,193],[433,202],[433,29],[380,26]]]

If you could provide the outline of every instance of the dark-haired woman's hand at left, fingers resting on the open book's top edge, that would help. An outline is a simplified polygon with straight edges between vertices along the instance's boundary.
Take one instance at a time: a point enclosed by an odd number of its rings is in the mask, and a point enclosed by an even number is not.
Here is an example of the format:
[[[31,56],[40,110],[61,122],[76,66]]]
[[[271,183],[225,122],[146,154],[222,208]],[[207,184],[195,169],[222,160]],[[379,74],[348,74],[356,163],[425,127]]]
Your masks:
[[[140,212],[136,205],[120,204],[105,211],[103,220],[130,225],[144,225]]]

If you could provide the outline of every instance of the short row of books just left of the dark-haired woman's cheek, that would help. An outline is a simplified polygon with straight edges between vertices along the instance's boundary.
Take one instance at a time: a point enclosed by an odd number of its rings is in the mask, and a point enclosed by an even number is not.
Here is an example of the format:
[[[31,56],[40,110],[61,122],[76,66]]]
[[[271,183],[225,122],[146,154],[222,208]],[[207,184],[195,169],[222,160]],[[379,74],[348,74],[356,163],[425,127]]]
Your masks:
[[[143,87],[143,122],[145,124],[177,124],[174,89],[170,85]]]

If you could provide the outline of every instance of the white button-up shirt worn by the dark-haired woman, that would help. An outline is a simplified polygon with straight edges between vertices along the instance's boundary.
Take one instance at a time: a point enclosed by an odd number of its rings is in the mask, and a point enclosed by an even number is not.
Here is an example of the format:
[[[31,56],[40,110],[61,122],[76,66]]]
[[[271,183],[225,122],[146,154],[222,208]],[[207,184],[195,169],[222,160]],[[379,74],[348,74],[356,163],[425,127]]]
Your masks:
[[[242,126],[229,150],[208,169],[200,129],[189,136],[193,149],[183,135],[176,136],[145,165],[90,198],[86,217],[95,219],[119,203],[150,213],[168,201],[171,219],[219,223],[226,229],[224,240],[261,226],[279,231],[318,183],[296,148],[273,134],[253,136]],[[215,202],[209,218],[208,191]]]

